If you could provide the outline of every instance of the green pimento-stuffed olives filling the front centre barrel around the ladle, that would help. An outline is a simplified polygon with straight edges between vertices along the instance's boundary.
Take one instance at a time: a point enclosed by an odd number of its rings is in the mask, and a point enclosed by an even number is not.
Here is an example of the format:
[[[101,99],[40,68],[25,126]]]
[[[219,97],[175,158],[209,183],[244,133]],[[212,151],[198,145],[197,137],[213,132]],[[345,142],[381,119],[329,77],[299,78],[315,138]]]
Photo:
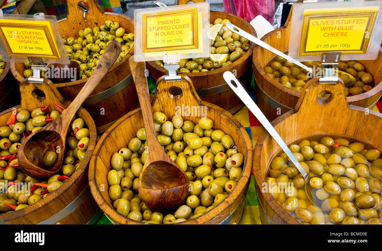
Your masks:
[[[139,199],[138,177],[147,156],[146,131],[141,128],[137,137],[111,158],[107,181],[113,207],[139,222],[170,224],[196,218],[234,189],[241,176],[243,154],[237,152],[230,135],[212,129],[209,118],[201,118],[196,125],[180,116],[168,121],[162,112],[154,112],[153,118],[160,145],[189,179],[189,196],[173,212],[153,212]]]

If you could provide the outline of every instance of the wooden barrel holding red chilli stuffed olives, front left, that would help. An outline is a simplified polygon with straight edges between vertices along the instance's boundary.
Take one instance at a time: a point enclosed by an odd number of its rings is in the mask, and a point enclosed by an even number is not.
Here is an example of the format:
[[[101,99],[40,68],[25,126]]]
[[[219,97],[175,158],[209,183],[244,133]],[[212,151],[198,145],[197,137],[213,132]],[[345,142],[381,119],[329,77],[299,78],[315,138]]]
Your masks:
[[[23,109],[31,111],[49,104],[51,109],[48,111],[51,111],[54,109],[53,103],[62,104],[65,107],[70,104],[48,79],[44,79],[44,83],[23,81],[20,84],[20,90],[21,104],[0,113],[0,125],[6,125],[13,109],[17,112]],[[84,119],[90,131],[89,146],[78,169],[62,186],[44,199],[24,209],[0,214],[3,222],[6,224],[86,224],[91,222],[94,215],[99,215],[97,214],[99,208],[90,193],[87,179],[88,163],[96,143],[97,131],[92,117],[84,108],[81,107],[76,116]]]

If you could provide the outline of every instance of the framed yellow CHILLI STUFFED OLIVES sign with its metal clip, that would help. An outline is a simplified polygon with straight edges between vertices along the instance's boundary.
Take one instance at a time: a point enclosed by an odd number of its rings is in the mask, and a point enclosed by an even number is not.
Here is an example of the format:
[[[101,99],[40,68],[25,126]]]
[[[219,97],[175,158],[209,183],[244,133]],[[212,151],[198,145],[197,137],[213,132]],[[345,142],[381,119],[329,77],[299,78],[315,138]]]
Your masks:
[[[68,64],[55,16],[0,14],[0,54],[5,62],[30,62],[33,77],[42,83],[44,64]]]

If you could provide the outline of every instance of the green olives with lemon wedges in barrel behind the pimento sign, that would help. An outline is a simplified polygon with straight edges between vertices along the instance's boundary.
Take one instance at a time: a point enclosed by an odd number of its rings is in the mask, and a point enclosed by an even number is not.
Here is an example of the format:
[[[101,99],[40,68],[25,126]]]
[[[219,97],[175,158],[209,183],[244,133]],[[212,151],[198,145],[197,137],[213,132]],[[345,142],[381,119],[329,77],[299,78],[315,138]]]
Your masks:
[[[210,24],[210,27],[215,24],[223,25],[215,39],[210,39],[210,54],[221,54],[224,56],[181,59],[178,63],[178,72],[207,72],[209,70],[215,70],[232,64],[248,51],[249,47],[251,47],[249,40],[228,30],[227,27],[225,27],[226,23],[231,23],[231,21],[217,18],[214,24]],[[154,62],[163,67],[163,61],[155,60]]]

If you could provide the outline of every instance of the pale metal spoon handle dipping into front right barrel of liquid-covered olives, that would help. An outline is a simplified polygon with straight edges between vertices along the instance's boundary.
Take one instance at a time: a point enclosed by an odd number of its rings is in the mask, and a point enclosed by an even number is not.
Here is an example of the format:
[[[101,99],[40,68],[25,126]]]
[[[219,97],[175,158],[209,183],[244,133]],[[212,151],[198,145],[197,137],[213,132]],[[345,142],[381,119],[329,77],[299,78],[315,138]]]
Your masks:
[[[227,23],[228,24],[228,23]],[[281,149],[285,152],[288,158],[292,161],[292,163],[296,166],[297,170],[303,175],[305,181],[308,181],[308,173],[304,170],[304,168],[300,165],[298,160],[296,160],[295,155],[289,150],[286,143],[283,139],[278,135],[276,130],[270,124],[268,119],[264,116],[264,114],[257,107],[255,102],[253,102],[252,98],[248,95],[246,90],[244,90],[243,86],[239,83],[239,81],[235,78],[235,76],[231,72],[223,73],[223,78],[227,82],[227,84],[231,87],[231,89],[236,93],[236,95],[243,101],[243,103],[248,107],[249,111],[253,113],[253,115],[260,121],[260,123],[265,127],[265,130],[269,132],[269,134],[276,140]]]

